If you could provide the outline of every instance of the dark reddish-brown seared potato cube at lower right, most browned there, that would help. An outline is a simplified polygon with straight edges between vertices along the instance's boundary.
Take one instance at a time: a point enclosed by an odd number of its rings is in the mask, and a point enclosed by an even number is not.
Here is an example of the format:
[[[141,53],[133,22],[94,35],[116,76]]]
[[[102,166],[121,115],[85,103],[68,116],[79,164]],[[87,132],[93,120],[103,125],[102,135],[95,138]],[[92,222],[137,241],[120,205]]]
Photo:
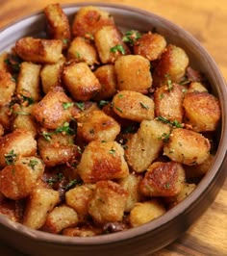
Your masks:
[[[139,184],[139,191],[145,196],[175,196],[185,183],[185,170],[176,162],[155,162],[147,168]]]

